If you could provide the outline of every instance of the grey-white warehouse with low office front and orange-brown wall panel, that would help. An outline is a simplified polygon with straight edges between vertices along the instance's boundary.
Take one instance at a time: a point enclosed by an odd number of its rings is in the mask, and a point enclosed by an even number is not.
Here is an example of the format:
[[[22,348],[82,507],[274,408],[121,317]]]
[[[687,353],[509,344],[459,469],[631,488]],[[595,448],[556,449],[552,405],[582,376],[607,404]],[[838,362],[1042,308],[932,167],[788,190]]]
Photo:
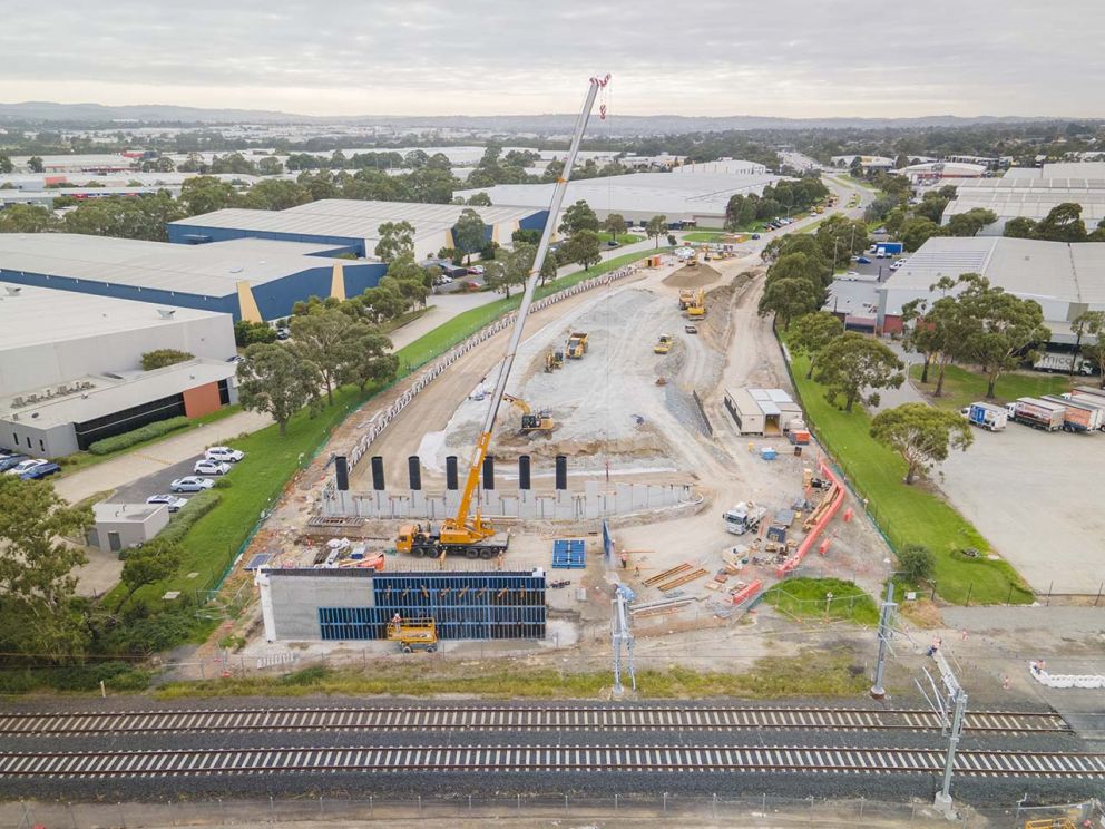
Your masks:
[[[0,287],[0,447],[60,457],[237,399],[226,314]],[[159,349],[193,359],[143,371],[141,354]]]

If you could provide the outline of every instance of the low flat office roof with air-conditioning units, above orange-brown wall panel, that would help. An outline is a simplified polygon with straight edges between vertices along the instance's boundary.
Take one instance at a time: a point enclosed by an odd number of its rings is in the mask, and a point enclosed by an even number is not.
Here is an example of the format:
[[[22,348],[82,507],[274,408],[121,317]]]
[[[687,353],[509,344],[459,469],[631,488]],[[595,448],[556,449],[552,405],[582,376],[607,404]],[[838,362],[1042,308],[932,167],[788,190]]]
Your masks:
[[[0,400],[0,418],[9,422],[33,426],[36,429],[81,423],[114,414],[133,406],[179,394],[185,389],[227,380],[235,376],[236,370],[236,363],[197,358],[154,371],[89,374],[66,383],[66,386],[90,383],[76,393],[18,407],[12,404],[13,397],[6,397]],[[19,397],[27,400],[26,393]]]

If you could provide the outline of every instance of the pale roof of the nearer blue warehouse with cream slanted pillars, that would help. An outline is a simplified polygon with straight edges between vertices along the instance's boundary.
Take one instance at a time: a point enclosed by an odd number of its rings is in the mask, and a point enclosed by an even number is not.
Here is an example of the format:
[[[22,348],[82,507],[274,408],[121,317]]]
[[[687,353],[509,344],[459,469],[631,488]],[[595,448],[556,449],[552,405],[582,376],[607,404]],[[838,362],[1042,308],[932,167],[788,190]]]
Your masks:
[[[74,233],[3,233],[0,270],[226,296],[238,282],[261,285],[313,267],[331,267],[335,260],[311,255],[331,248],[260,238],[174,245]]]

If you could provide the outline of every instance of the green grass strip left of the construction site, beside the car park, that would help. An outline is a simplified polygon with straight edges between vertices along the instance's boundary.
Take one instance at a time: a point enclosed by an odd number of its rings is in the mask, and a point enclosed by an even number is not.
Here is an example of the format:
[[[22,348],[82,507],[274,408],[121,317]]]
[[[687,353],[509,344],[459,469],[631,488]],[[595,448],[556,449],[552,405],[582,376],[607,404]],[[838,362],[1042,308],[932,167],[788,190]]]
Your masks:
[[[296,469],[310,461],[330,431],[371,394],[371,389],[363,394],[354,387],[340,389],[334,393],[334,404],[317,417],[311,418],[306,410],[295,414],[283,438],[274,423],[227,441],[246,457],[226,476],[228,486],[218,489],[222,496],[218,506],[185,534],[180,542],[184,557],[179,570],[158,584],[143,587],[131,601],[157,605],[166,591],[190,594],[214,587],[261,518],[262,510],[273,506]],[[189,573],[197,575],[189,578]],[[117,585],[105,599],[105,606],[114,607],[125,592]]]

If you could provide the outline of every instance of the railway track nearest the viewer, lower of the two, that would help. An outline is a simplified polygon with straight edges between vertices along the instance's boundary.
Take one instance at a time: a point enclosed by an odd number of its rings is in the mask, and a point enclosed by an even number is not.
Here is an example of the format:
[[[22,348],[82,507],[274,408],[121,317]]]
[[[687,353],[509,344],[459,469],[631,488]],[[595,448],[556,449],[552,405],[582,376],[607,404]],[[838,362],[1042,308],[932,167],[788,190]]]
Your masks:
[[[936,774],[940,750],[749,747],[408,745],[325,749],[0,752],[0,780],[204,778],[349,772],[803,772]],[[956,774],[1105,780],[1105,754],[960,751]]]

